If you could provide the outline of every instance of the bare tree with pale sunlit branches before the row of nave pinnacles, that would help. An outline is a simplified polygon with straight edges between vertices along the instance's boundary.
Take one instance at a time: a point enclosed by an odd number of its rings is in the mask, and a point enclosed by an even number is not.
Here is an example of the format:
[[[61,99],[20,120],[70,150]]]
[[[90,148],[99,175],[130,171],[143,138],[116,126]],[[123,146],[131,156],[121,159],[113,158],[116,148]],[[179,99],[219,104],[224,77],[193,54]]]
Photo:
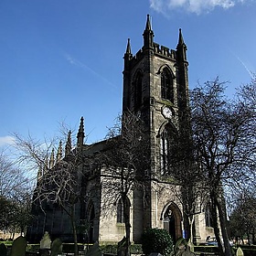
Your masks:
[[[71,148],[71,133],[62,155],[62,144],[59,143],[57,157],[54,157],[54,140],[47,143],[27,139],[16,134],[16,147],[19,150],[19,161],[27,168],[38,170],[37,187],[33,197],[33,208],[46,213],[47,205],[60,208],[69,217],[73,231],[75,255],[78,255],[77,223],[75,208],[80,200],[80,147]]]

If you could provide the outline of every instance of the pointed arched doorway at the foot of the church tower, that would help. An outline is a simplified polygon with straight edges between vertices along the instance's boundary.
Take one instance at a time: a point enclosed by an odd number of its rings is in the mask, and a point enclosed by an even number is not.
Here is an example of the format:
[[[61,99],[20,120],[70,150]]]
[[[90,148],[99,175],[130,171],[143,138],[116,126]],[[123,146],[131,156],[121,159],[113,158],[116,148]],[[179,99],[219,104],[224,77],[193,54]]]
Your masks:
[[[182,215],[175,203],[169,203],[162,211],[161,220],[164,222],[164,229],[166,229],[176,241],[182,237],[181,220]]]

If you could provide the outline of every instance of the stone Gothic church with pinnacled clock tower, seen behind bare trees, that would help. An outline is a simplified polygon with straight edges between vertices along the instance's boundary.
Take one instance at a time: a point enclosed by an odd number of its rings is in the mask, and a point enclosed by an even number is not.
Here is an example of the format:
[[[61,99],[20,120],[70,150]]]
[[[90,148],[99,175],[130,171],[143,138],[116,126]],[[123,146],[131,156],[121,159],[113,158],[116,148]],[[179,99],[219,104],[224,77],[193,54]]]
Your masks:
[[[154,36],[150,16],[147,16],[142,48],[133,54],[128,39],[123,57],[123,113],[131,112],[144,121],[150,148],[148,174],[151,178],[146,192],[149,197],[147,204],[144,204],[144,196],[139,189],[133,189],[127,197],[130,206],[131,241],[135,243],[140,242],[141,235],[147,228],[167,229],[173,240],[186,238],[188,232],[184,208],[178,197],[180,187],[165,176],[173,131],[183,130],[189,133],[190,130],[189,121],[186,122],[188,117],[184,114],[189,106],[187,46],[181,29],[176,49],[157,44]],[[185,123],[186,129],[182,127]],[[104,149],[106,141],[84,144],[84,136],[84,123],[81,118],[76,148],[83,155],[92,157]],[[63,158],[67,157],[70,148],[69,137]],[[61,157],[62,155],[58,156],[59,159]],[[81,173],[86,173],[89,167],[83,163],[78,168]],[[80,177],[80,197],[85,199],[76,204],[76,220],[79,223],[81,219],[86,219],[90,223],[86,240],[118,242],[125,236],[122,202],[114,202],[110,212],[102,210],[103,198],[109,195],[101,187],[101,173],[102,171],[95,175],[91,172],[86,177]],[[206,213],[207,210],[203,210],[195,215],[193,235],[197,243],[205,241],[208,235],[213,235]],[[45,231],[48,231],[52,239],[59,237],[63,241],[72,240],[72,231],[65,212],[48,206],[42,213],[34,206],[34,215],[35,219],[27,229],[28,240],[40,240]],[[81,234],[79,240],[84,241],[84,235]]]

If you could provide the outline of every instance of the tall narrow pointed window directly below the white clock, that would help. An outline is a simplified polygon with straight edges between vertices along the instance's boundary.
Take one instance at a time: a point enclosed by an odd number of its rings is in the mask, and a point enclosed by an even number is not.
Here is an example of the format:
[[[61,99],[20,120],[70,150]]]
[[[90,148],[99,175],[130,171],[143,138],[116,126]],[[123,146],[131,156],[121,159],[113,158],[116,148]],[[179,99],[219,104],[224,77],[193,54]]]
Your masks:
[[[169,157],[169,141],[168,141],[168,132],[164,130],[161,134],[160,142],[160,156],[161,156],[161,175],[164,175],[168,168],[168,157]]]

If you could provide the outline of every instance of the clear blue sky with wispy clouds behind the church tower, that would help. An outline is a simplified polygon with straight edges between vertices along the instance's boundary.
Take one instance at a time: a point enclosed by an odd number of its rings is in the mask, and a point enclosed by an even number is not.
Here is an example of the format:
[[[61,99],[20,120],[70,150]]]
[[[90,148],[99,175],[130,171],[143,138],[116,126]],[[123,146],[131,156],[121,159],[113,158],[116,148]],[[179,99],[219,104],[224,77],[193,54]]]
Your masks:
[[[0,146],[11,133],[40,139],[77,132],[99,141],[122,111],[123,53],[143,44],[146,15],[155,42],[187,44],[189,85],[229,80],[228,92],[256,70],[254,0],[1,0]]]

